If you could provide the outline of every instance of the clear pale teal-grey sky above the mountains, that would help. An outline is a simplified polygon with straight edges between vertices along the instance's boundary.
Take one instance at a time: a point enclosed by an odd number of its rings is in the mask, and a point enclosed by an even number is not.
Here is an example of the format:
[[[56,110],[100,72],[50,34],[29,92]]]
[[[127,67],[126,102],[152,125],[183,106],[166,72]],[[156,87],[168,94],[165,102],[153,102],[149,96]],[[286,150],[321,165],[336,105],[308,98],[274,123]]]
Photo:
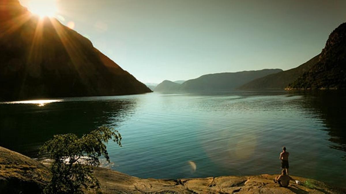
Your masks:
[[[25,6],[29,1],[20,0]],[[42,0],[41,0],[42,1]],[[345,0],[56,0],[64,25],[143,83],[316,56],[346,22]]]

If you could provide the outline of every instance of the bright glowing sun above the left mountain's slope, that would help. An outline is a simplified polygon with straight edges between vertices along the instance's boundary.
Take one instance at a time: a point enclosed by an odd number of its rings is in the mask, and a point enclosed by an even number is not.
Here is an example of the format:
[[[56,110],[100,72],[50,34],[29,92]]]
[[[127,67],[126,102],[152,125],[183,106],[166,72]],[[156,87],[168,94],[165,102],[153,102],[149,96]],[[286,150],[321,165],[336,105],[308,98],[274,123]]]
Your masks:
[[[58,9],[57,0],[29,0],[28,10],[39,17],[54,17]]]

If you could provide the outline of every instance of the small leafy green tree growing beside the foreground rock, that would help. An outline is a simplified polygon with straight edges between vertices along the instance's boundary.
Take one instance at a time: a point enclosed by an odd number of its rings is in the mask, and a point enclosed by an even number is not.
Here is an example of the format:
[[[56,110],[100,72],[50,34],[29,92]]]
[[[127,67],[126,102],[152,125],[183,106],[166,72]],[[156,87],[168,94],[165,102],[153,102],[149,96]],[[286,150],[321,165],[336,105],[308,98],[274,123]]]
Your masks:
[[[117,130],[99,127],[81,138],[74,134],[55,135],[40,150],[53,159],[52,179],[45,193],[83,193],[82,188],[97,187],[99,182],[93,175],[92,166],[99,166],[99,157],[110,162],[106,143],[113,140],[121,146]]]

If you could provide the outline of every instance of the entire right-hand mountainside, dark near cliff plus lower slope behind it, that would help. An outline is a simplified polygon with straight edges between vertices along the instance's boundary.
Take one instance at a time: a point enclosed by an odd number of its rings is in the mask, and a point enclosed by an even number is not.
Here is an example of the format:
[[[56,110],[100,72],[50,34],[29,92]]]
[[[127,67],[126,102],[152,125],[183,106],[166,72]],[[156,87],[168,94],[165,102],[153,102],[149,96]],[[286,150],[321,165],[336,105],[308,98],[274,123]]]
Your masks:
[[[321,53],[304,64],[253,80],[238,89],[346,88],[346,22],[334,29]]]

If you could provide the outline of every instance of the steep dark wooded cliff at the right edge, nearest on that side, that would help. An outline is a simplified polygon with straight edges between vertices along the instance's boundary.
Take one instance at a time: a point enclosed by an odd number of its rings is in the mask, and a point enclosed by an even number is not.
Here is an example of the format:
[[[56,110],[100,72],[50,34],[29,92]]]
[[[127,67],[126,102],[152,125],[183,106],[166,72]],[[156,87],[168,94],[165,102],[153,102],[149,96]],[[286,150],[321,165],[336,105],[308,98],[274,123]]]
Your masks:
[[[346,23],[331,32],[317,64],[288,88],[346,88]]]

